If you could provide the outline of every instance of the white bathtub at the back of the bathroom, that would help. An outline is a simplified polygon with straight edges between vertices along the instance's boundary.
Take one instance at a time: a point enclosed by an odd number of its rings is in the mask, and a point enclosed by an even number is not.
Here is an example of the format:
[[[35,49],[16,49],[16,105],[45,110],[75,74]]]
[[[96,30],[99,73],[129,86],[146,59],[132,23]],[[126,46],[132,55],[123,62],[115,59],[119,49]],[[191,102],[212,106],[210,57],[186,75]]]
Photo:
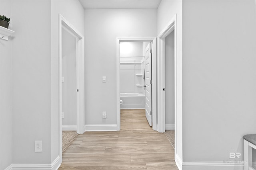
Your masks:
[[[123,104],[121,109],[145,109],[145,94],[143,93],[120,93]]]

